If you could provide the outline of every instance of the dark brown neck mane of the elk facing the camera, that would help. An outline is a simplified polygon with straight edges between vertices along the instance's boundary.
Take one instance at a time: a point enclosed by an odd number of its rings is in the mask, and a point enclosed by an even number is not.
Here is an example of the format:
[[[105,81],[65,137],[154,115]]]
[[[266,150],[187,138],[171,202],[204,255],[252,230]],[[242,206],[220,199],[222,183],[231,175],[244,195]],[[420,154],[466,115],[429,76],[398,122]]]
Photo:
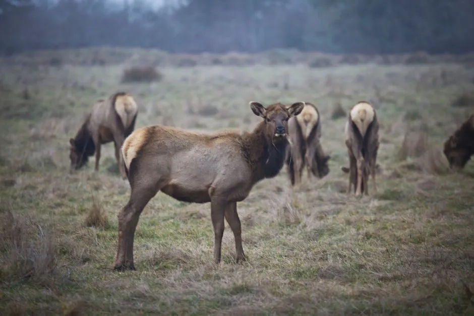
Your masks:
[[[260,122],[252,133],[244,135],[243,149],[252,169],[252,182],[276,176],[285,161],[286,139],[272,143],[265,136],[265,122]]]

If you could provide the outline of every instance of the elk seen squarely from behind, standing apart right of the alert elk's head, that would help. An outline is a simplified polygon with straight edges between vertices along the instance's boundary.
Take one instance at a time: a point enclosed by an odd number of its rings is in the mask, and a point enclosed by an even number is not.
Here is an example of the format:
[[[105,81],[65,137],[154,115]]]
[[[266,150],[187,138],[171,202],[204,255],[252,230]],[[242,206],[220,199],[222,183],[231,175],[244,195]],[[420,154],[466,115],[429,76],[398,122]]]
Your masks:
[[[349,155],[349,185],[354,186],[356,196],[369,194],[368,178],[372,175],[374,193],[377,152],[379,149],[379,122],[375,108],[366,101],[360,101],[352,107],[345,124],[345,145]],[[342,167],[344,171],[344,167]]]

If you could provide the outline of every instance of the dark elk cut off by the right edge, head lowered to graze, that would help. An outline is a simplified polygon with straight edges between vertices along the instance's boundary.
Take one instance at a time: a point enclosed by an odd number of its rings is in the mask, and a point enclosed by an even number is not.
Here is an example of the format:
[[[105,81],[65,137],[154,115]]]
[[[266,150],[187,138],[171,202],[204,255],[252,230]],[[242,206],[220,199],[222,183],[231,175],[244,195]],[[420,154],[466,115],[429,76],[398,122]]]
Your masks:
[[[455,170],[464,168],[470,156],[474,154],[474,114],[444,142],[444,155],[449,167]]]

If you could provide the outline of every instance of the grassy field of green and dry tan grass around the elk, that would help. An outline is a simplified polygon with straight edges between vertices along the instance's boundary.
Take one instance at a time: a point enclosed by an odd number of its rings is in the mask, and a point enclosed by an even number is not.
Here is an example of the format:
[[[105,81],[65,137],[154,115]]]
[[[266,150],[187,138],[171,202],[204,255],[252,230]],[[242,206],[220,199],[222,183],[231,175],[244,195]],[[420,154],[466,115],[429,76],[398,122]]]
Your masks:
[[[441,154],[474,106],[474,68],[162,67],[161,81],[124,84],[120,64],[0,67],[0,314],[474,314],[474,163],[453,173]],[[251,100],[312,102],[330,173],[304,175],[293,195],[283,169],[238,203],[243,265],[227,223],[212,263],[209,204],[158,193],[138,224],[137,271],[112,272],[130,187],[112,144],[98,173],[92,158],[69,174],[69,138],[118,90],[139,104],[137,128],[250,131]],[[333,113],[361,99],[378,110],[381,170],[378,194],[355,198],[340,170],[346,118]]]

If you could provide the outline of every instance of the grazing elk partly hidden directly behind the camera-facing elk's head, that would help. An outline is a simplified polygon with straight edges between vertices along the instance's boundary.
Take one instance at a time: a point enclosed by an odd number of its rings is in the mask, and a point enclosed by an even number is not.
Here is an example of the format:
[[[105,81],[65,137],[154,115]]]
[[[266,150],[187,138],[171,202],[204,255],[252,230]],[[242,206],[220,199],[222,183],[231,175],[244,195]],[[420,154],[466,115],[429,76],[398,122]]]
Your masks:
[[[309,102],[295,117],[288,121],[290,145],[287,148],[286,170],[291,185],[300,184],[306,166],[308,178],[313,174],[323,178],[329,173],[329,155],[321,147],[321,117],[318,108]]]

